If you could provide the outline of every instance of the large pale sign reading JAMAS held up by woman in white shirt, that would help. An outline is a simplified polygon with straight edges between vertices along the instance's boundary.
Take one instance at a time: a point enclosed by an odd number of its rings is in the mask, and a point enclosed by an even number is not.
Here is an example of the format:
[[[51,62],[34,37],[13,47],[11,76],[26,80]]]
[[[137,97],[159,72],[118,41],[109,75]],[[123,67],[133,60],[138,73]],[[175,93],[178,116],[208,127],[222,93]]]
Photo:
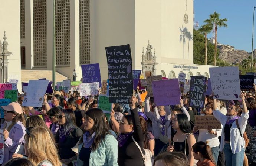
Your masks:
[[[209,68],[214,98],[241,100],[238,67]]]

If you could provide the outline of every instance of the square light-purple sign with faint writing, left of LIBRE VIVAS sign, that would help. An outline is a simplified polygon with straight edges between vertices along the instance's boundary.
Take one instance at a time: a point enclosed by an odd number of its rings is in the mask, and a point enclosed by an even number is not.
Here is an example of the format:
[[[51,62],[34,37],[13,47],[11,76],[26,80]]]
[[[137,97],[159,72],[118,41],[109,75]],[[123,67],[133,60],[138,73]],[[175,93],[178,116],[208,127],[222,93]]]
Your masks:
[[[180,104],[178,79],[152,81],[154,102],[157,106]]]

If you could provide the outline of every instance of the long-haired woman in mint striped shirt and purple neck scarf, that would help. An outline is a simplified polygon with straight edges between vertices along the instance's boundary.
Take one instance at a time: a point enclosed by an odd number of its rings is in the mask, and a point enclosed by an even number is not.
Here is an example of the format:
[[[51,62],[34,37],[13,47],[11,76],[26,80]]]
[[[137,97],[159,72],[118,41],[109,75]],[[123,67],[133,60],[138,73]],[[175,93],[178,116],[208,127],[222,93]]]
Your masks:
[[[104,113],[92,108],[85,113],[84,134],[78,145],[78,166],[118,166],[117,141],[108,132]]]

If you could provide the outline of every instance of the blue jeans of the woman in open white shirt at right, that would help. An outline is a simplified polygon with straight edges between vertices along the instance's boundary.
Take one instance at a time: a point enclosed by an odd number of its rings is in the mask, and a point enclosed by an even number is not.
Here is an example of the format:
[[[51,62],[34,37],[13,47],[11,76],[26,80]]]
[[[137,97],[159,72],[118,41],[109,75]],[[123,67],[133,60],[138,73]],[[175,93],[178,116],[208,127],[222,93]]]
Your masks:
[[[230,143],[225,143],[223,148],[225,154],[226,166],[243,166],[244,148],[242,151],[233,154],[231,151]]]

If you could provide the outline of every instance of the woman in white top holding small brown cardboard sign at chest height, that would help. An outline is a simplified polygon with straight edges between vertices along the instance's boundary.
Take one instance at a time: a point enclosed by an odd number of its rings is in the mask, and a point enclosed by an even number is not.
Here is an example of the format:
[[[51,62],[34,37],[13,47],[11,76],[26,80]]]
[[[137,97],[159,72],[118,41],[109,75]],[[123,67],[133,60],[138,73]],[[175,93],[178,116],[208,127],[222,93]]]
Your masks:
[[[205,106],[204,114],[201,114],[201,116],[211,116],[213,115],[213,103],[208,102]],[[221,127],[222,128],[222,127]],[[218,161],[218,155],[220,152],[220,141],[219,136],[221,136],[221,129],[198,129],[196,125],[194,125],[193,132],[194,134],[199,131],[198,139],[197,141],[203,141],[207,142],[207,145],[210,146],[211,152],[213,153],[213,158],[215,163]]]

